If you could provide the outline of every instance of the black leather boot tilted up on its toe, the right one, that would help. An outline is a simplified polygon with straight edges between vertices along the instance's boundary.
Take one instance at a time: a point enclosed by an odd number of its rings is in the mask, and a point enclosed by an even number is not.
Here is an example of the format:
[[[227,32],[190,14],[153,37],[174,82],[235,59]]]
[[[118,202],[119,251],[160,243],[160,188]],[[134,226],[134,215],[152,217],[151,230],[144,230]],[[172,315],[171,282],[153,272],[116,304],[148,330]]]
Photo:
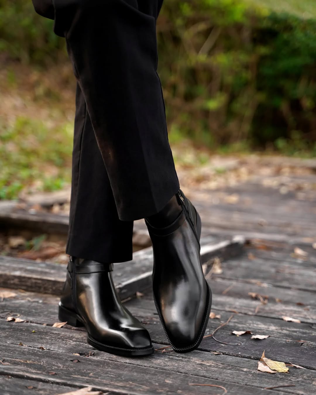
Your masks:
[[[198,348],[209,320],[212,293],[202,270],[201,219],[179,190],[180,215],[156,228],[146,219],[154,250],[152,283],[157,312],[173,350]],[[169,210],[170,212],[170,210]]]

